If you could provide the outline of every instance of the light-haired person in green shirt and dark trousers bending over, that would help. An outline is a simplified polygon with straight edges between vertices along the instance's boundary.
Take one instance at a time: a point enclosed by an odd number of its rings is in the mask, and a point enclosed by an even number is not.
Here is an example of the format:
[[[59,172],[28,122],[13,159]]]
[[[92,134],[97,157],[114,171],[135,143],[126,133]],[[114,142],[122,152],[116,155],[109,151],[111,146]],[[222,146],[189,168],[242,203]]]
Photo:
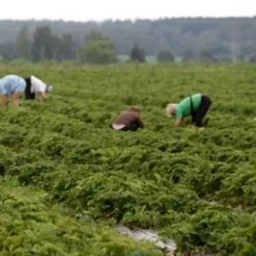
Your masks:
[[[207,119],[203,120],[212,105],[212,100],[206,94],[197,93],[188,96],[178,104],[170,103],[166,107],[168,117],[175,117],[175,126],[181,125],[183,119],[189,115],[192,117],[192,123],[197,127],[207,125]]]

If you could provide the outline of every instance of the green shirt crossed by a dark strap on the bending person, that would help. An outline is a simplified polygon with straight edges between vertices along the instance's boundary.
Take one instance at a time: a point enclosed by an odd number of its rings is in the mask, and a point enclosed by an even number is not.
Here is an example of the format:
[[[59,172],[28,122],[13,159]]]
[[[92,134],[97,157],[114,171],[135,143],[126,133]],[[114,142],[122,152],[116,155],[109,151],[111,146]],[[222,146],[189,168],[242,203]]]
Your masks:
[[[193,96],[191,96],[191,98],[192,98],[194,111],[196,111],[201,103],[201,93],[194,94]],[[190,97],[186,97],[183,99],[183,101],[177,104],[176,119],[183,119],[184,117],[187,117],[190,114],[191,114]]]

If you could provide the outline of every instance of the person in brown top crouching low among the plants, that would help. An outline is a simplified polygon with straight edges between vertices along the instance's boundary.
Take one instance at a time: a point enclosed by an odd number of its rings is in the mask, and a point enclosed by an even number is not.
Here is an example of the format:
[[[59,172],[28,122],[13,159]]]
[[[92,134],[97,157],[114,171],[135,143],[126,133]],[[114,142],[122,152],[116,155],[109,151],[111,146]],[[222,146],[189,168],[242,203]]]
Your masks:
[[[144,128],[143,120],[141,119],[141,110],[138,107],[131,107],[129,110],[120,113],[114,120],[111,128],[118,131],[137,131],[139,128]]]

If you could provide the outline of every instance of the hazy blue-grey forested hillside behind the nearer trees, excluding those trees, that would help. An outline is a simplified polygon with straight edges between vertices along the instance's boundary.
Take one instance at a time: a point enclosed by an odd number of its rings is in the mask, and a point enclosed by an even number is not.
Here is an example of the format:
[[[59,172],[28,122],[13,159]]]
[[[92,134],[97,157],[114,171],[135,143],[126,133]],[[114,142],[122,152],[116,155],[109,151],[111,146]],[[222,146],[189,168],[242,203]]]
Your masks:
[[[143,45],[147,55],[156,56],[162,49],[172,49],[176,56],[185,49],[207,51],[219,58],[233,61],[243,54],[255,53],[255,17],[171,18],[158,20],[105,20],[103,22],[73,22],[62,20],[1,20],[0,55],[14,55],[14,44],[22,26],[34,32],[37,26],[50,26],[55,36],[72,34],[78,53],[84,35],[91,30],[104,32],[113,40],[120,55],[130,55],[131,46]],[[3,48],[2,48],[3,46]],[[9,50],[8,50],[9,49]]]

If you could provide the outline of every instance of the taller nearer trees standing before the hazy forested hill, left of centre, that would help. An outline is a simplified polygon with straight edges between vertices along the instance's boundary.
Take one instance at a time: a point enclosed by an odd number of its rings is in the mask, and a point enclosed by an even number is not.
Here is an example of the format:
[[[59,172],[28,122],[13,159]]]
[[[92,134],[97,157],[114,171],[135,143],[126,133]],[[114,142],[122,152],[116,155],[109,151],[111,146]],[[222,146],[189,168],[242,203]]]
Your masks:
[[[27,26],[23,26],[17,36],[13,58],[26,61],[68,61],[78,59],[80,63],[113,63],[117,62],[117,50],[108,36],[98,30],[86,34],[83,44],[76,49],[71,34],[57,36],[49,26],[38,26],[32,40],[28,36]],[[9,58],[8,55],[3,55]],[[131,61],[145,61],[143,50],[137,44],[131,50]]]

